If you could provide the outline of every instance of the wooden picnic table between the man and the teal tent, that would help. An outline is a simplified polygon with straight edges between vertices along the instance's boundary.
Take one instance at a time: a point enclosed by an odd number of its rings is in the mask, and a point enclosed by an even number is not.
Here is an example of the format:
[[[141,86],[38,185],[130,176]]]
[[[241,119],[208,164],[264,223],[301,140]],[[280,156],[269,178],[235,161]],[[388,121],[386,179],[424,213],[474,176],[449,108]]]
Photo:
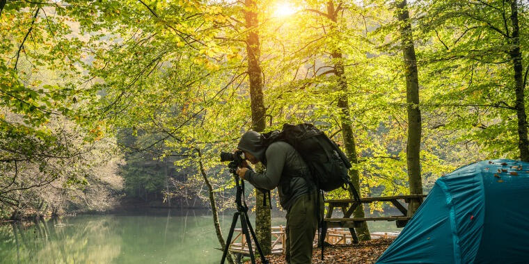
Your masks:
[[[409,204],[412,200],[423,201],[426,195],[396,195],[387,197],[365,197],[361,198],[360,201],[355,199],[333,199],[326,200],[325,204],[328,204],[327,213],[324,217],[322,226],[322,236],[320,236],[320,243],[323,242],[322,238],[325,238],[327,229],[330,227],[345,227],[349,228],[349,232],[353,238],[353,242],[358,243],[358,237],[354,231],[355,227],[359,227],[363,222],[366,221],[395,221],[397,227],[404,227],[406,223],[411,219],[408,216],[408,210],[401,204],[400,201],[404,201],[405,204]],[[353,212],[360,204],[370,204],[374,201],[389,201],[395,208],[397,208],[402,215],[394,216],[381,216],[381,217],[361,217],[353,218]],[[334,208],[341,208],[343,216],[340,218],[333,217]]]

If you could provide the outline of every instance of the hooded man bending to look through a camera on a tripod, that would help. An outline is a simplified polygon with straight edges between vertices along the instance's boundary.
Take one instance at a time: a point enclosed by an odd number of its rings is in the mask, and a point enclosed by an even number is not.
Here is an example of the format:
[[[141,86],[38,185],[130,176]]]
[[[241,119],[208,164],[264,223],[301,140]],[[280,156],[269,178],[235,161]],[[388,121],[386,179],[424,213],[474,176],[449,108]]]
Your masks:
[[[242,135],[237,146],[252,164],[261,162],[266,170],[255,173],[246,167],[237,174],[255,188],[272,190],[278,188],[279,203],[287,211],[285,229],[285,258],[289,264],[311,263],[313,239],[316,233],[317,201],[319,217],[323,217],[323,199],[317,199],[317,188],[310,181],[310,171],[297,151],[287,142],[263,145],[262,136],[255,131]],[[245,164],[244,166],[247,166]]]

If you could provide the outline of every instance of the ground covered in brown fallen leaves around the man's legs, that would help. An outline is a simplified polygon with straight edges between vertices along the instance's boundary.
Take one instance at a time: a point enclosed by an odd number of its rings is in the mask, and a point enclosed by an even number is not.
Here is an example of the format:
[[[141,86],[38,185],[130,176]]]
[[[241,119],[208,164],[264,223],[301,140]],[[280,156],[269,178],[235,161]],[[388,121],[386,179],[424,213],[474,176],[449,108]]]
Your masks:
[[[375,263],[384,253],[394,238],[378,238],[357,245],[331,245],[324,248],[324,261],[322,261],[321,248],[313,251],[313,263],[317,264],[342,264],[342,263]],[[285,255],[267,256],[270,264],[283,264]],[[245,264],[250,264],[246,261]],[[261,263],[260,259],[257,263]]]

